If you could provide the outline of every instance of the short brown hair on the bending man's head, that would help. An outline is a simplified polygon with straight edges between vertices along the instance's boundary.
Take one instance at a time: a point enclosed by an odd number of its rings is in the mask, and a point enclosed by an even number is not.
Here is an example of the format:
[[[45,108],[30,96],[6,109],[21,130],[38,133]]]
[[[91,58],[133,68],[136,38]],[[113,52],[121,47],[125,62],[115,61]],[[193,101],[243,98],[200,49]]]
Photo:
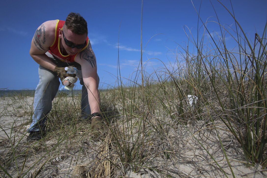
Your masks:
[[[69,29],[75,34],[84,34],[88,35],[87,22],[79,13],[71,12],[66,18],[66,22],[63,25],[63,29]]]

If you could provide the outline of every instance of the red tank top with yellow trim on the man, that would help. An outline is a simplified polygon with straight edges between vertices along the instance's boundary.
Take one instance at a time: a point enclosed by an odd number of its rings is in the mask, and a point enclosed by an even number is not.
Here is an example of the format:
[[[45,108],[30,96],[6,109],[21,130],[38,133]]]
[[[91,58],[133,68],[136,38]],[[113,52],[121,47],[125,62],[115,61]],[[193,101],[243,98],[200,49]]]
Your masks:
[[[64,56],[60,52],[60,45],[59,45],[60,44],[60,40],[59,40],[59,37],[58,37],[58,34],[59,34],[58,29],[62,28],[64,23],[65,23],[64,20],[57,20],[57,24],[56,24],[56,28],[55,28],[55,39],[54,39],[53,44],[49,47],[48,52],[50,54],[52,54],[54,57],[60,59],[61,61],[75,62],[75,57],[77,56],[78,53],[76,53],[74,55]],[[81,51],[83,51],[85,48],[87,48],[88,44],[89,44],[89,38],[87,37],[86,45]]]

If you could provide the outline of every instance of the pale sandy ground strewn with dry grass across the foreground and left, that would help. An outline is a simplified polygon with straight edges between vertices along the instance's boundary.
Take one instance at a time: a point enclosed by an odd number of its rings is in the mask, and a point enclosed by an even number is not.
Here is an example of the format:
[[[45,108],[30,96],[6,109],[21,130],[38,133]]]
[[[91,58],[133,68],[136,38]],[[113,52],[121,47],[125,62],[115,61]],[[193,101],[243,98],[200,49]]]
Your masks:
[[[1,165],[12,177],[98,177],[94,171],[111,172],[112,177],[233,177],[227,159],[235,177],[267,176],[266,170],[261,169],[260,165],[247,166],[242,149],[227,131],[220,130],[219,133],[226,158],[215,130],[194,131],[196,127],[192,125],[188,125],[187,130],[181,126],[170,129],[165,140],[155,138],[154,142],[150,140],[150,143],[146,143],[146,155],[151,157],[144,158],[143,167],[135,172],[133,165],[129,165],[128,169],[120,169],[124,163],[119,159],[118,146],[109,142],[112,134],[107,133],[103,140],[94,140],[90,124],[79,122],[79,129],[73,133],[68,133],[67,128],[65,133],[54,130],[41,142],[28,143],[26,129],[31,122],[33,97],[5,97],[0,98],[0,103]],[[203,121],[195,124],[201,125]],[[219,121],[216,124],[217,127],[223,127]],[[64,138],[64,134],[68,136]],[[205,142],[199,143],[195,138]],[[160,147],[165,147],[165,152]],[[2,170],[1,175],[7,175],[5,171]]]

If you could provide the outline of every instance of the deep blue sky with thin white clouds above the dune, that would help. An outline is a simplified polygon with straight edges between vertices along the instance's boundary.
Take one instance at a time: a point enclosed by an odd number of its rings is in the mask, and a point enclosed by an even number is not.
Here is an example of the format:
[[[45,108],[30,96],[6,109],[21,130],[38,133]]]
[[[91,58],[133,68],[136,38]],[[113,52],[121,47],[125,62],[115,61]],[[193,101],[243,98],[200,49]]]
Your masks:
[[[201,1],[192,2],[199,11]],[[198,15],[192,2],[143,1],[143,49],[146,46],[143,63],[150,59],[145,63],[147,73],[163,67],[162,62],[175,62],[178,45],[184,46],[188,42],[185,31],[189,30],[184,29],[190,29],[193,38],[196,38]],[[231,10],[229,0],[222,2]],[[211,21],[207,25],[211,32],[219,32],[216,22],[212,22],[217,21],[217,18],[211,3],[220,24],[228,26],[234,23],[233,18],[217,1],[203,0],[199,14],[203,21]],[[267,1],[232,0],[232,5],[237,21],[245,33],[250,35],[251,41],[254,41],[255,32],[262,36],[267,17]],[[101,88],[116,86],[118,44],[120,72],[126,83],[136,71],[141,56],[141,7],[141,0],[3,1],[0,7],[0,88],[36,88],[39,82],[38,64],[29,55],[33,34],[43,22],[65,20],[70,12],[80,13],[87,21],[88,37],[96,55]],[[231,44],[229,42],[229,48],[234,48]],[[77,84],[78,88],[80,84]]]

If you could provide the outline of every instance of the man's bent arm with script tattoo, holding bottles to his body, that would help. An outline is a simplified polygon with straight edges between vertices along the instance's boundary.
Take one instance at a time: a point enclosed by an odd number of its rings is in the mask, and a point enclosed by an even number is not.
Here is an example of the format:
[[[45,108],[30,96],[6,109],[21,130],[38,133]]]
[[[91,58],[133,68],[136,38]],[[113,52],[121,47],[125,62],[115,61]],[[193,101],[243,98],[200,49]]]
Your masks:
[[[56,21],[46,21],[40,25],[34,33],[30,55],[41,66],[54,70],[56,65],[45,54],[49,47],[53,44],[55,38]]]

